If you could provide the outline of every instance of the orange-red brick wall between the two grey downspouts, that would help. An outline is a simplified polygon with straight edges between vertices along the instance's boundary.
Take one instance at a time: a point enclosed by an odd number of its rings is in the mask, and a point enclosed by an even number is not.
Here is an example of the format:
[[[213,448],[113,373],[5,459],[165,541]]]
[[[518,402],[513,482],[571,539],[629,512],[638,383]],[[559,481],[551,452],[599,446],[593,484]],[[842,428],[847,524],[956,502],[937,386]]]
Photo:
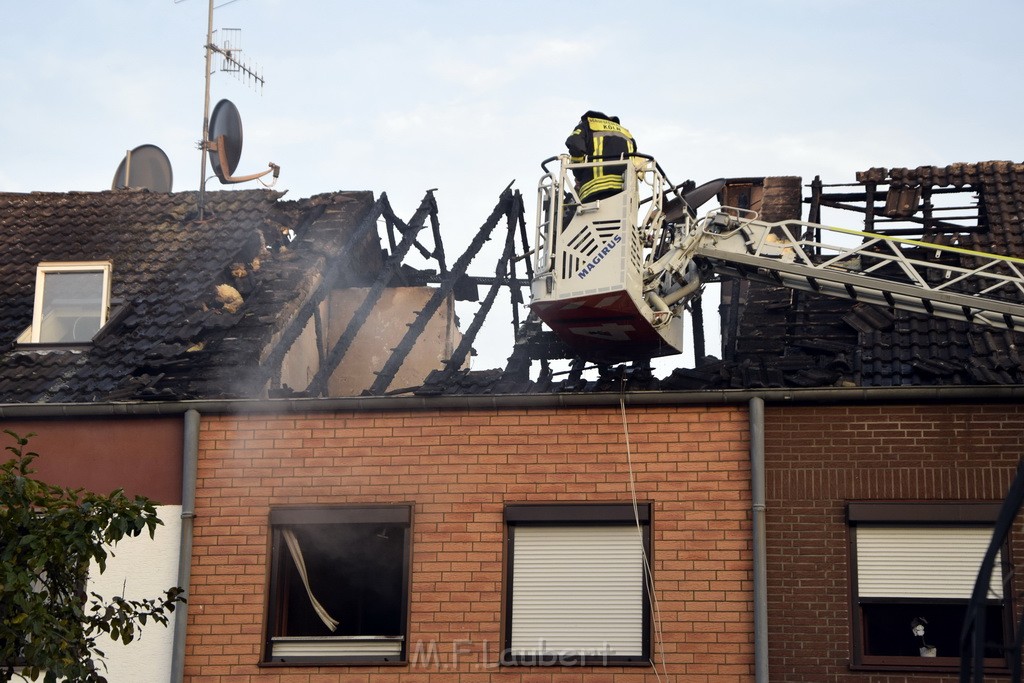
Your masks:
[[[653,503],[664,678],[753,673],[745,410],[628,409],[637,497]],[[658,680],[649,668],[502,668],[503,506],[629,502],[611,408],[204,417],[185,673],[190,680]],[[257,667],[270,506],[413,503],[404,667]],[[418,645],[422,644],[422,645]],[[457,654],[458,652],[458,654]]]

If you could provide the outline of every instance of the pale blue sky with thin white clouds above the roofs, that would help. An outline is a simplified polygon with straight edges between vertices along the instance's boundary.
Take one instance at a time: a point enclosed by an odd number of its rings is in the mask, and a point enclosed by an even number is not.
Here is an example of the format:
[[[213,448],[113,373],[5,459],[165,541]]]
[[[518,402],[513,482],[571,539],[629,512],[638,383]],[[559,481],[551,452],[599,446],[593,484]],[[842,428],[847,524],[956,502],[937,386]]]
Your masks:
[[[199,187],[208,0],[0,7],[0,191],[109,189],[140,144]],[[286,199],[387,193],[409,218],[436,188],[454,261],[510,182],[532,217],[591,109],[675,183],[1019,161],[1022,25],[1020,0],[216,0],[215,42],[241,29],[265,84],[214,72],[211,108],[242,114],[237,174],[273,162]],[[489,318],[476,369],[511,352],[510,313]]]

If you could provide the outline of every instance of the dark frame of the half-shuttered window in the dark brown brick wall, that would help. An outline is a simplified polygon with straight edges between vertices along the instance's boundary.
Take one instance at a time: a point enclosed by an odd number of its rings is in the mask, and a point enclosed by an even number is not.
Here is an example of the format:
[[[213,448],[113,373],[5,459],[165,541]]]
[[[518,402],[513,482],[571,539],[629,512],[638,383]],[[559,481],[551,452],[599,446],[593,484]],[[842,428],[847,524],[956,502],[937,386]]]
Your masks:
[[[850,668],[859,671],[900,671],[955,673],[959,671],[959,654],[952,656],[902,656],[879,655],[864,652],[865,625],[862,605],[914,605],[966,607],[967,600],[935,598],[894,601],[884,598],[860,598],[857,577],[857,527],[866,526],[922,526],[964,528],[969,526],[994,528],[999,513],[999,503],[988,502],[911,502],[911,501],[852,501],[846,506],[848,570],[849,581],[849,624],[850,624]],[[1013,571],[1009,540],[1001,548],[1001,568],[1004,577]],[[1013,591],[1006,589],[1001,601],[992,600],[992,606],[1001,610],[1004,641],[1012,644],[1016,623],[1014,621]],[[909,624],[907,625],[909,628]],[[926,629],[927,637],[927,629]],[[1010,668],[1009,654],[1004,657],[986,657],[986,671],[1006,673]]]

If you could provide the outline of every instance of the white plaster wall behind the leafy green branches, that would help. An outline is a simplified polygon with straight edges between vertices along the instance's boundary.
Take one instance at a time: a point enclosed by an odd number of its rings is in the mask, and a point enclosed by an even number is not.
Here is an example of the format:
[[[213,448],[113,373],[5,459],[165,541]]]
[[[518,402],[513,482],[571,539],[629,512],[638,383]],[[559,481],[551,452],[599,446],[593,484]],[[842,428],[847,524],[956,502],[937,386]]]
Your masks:
[[[163,523],[151,540],[145,531],[129,538],[108,557],[106,570],[89,573],[88,591],[104,598],[124,595],[131,600],[156,598],[177,585],[178,547],[181,541],[181,506],[162,505],[157,515]],[[167,627],[148,622],[128,645],[106,636],[97,641],[106,653],[110,683],[167,683],[171,679],[171,650],[175,610]]]

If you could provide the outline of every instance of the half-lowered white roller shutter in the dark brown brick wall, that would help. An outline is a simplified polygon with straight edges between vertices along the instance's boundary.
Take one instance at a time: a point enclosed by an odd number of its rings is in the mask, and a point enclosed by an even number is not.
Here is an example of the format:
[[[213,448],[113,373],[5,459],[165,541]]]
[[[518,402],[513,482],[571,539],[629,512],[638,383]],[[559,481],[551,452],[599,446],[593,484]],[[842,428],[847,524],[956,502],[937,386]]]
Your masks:
[[[969,599],[992,538],[984,526],[857,526],[857,595]],[[996,558],[988,597],[1002,598]]]

